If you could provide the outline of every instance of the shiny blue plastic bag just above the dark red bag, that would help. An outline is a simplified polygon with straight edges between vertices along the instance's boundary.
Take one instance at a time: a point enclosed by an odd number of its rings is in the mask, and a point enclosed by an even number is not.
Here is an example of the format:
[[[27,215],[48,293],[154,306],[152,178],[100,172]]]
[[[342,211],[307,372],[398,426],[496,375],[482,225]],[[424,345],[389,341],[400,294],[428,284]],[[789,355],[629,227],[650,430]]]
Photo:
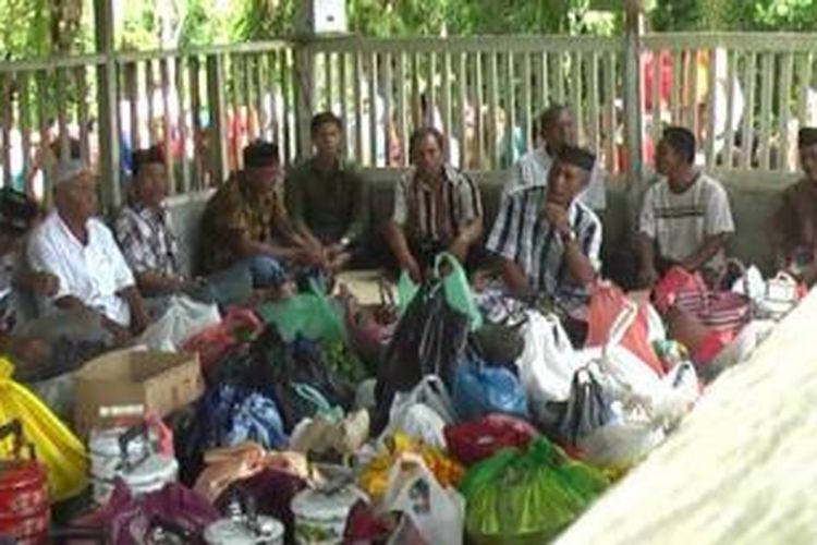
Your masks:
[[[454,372],[453,402],[463,421],[490,413],[527,417],[525,388],[516,375],[504,367],[478,363],[460,365]]]

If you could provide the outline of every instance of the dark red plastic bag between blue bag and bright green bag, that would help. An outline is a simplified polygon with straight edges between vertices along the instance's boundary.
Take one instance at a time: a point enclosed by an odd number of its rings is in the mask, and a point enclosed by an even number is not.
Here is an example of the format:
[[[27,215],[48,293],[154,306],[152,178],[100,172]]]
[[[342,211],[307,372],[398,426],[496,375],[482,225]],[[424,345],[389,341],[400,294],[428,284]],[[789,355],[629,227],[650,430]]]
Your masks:
[[[539,434],[523,420],[488,414],[465,424],[446,426],[443,435],[451,455],[471,465],[507,447],[524,449]]]

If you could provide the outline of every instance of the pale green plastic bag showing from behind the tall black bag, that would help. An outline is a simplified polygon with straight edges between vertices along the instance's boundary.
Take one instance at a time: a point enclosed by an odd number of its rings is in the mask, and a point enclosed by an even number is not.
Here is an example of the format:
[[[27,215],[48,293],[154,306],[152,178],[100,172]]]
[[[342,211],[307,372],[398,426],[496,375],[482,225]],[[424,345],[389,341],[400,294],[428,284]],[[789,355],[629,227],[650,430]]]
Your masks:
[[[443,263],[450,267],[449,274],[444,278],[440,274],[440,267]],[[474,300],[474,293],[471,291],[468,275],[458,258],[448,252],[437,254],[434,262],[434,278],[442,282],[448,304],[458,312],[468,316],[471,330],[476,331],[483,327],[483,315]],[[419,287],[412,281],[408,274],[404,270],[398,280],[398,312],[401,316],[418,290]]]

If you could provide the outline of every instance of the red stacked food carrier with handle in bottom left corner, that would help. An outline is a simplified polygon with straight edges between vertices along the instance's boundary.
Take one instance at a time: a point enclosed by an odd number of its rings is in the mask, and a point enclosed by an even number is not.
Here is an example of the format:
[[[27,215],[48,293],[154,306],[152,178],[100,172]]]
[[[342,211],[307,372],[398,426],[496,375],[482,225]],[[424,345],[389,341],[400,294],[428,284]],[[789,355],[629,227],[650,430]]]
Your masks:
[[[20,421],[0,427],[0,440],[10,436],[13,456],[0,461],[0,536],[23,545],[46,543],[50,522],[46,467],[35,459],[34,447],[24,444]],[[23,450],[28,450],[27,459]]]

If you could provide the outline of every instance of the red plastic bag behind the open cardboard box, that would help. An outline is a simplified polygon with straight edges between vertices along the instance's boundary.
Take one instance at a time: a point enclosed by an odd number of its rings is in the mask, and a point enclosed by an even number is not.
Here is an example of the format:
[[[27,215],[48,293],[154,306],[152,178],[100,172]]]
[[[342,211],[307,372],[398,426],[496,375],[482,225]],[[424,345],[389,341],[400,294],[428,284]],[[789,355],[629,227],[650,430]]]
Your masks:
[[[202,372],[206,373],[235,344],[252,340],[264,330],[264,323],[249,308],[230,308],[216,327],[211,327],[187,339],[184,350],[197,352]]]

